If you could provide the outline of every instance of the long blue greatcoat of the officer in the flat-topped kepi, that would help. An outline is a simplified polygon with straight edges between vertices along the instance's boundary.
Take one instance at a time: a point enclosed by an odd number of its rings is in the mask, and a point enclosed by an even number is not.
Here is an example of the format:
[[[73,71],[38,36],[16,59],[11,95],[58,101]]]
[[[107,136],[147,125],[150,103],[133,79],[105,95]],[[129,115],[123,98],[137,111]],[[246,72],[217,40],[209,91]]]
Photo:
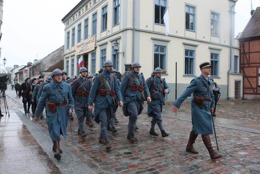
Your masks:
[[[206,84],[210,85],[210,91],[206,94],[207,88],[204,86],[204,84],[200,81],[200,79]],[[211,114],[210,114],[210,108],[215,107],[215,101],[214,101],[214,95],[213,95],[213,89],[212,89],[212,80],[210,78],[206,79],[203,74],[200,74],[199,77],[195,77],[191,80],[190,85],[186,88],[186,90],[180,95],[179,98],[177,98],[176,101],[174,101],[174,105],[178,108],[180,108],[181,103],[191,94],[203,97],[204,94],[206,96],[204,99],[212,99],[211,102],[203,102],[203,109],[200,109],[198,104],[195,102],[195,100],[191,99],[191,119],[192,119],[192,130],[195,131],[195,134],[213,134],[212,130],[212,122],[211,122]]]

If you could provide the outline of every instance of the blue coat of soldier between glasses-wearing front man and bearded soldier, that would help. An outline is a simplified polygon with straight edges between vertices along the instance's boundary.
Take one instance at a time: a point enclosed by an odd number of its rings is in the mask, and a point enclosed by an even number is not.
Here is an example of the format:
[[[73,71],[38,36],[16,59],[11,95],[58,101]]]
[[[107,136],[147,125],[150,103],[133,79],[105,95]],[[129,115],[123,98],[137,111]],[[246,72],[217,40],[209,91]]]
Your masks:
[[[83,85],[81,85],[82,83]],[[81,107],[81,108],[88,107],[88,96],[86,96],[85,94],[83,94],[82,96],[77,95],[76,90],[82,90],[83,92],[85,92],[86,90],[90,91],[90,88],[91,88],[91,81],[87,78],[83,79],[82,77],[79,77],[78,79],[75,79],[73,81],[71,85],[71,91],[72,91],[72,96],[74,98],[74,105],[76,107]]]

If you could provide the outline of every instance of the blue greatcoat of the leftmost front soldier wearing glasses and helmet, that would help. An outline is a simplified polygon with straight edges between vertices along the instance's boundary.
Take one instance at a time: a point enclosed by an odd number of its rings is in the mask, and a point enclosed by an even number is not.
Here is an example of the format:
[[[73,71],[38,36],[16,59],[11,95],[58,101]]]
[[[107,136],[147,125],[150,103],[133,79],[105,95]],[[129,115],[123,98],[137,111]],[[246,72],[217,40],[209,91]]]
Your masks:
[[[51,83],[46,84],[43,87],[40,101],[38,102],[35,111],[35,117],[40,117],[46,99],[48,99],[51,103],[64,102],[64,98],[57,89],[60,89],[61,93],[65,97],[65,101],[69,100],[69,109],[73,110],[74,100],[71,94],[70,85],[64,83],[63,81],[61,81],[60,84],[57,84],[53,80]],[[60,129],[62,130],[62,134],[66,140],[66,129],[69,120],[67,104],[63,106],[56,106],[55,113],[51,113],[50,109],[48,109],[46,117],[51,140],[60,141]]]

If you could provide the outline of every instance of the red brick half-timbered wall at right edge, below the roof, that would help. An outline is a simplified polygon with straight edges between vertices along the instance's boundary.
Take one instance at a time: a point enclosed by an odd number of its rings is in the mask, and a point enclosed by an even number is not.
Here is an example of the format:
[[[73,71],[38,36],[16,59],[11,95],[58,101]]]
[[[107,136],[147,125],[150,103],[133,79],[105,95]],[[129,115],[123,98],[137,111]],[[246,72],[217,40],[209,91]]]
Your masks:
[[[240,46],[241,46],[240,67],[241,67],[241,73],[244,73],[243,86],[244,88],[251,88],[252,85],[252,87],[256,92],[254,93],[253,89],[244,89],[244,93],[259,95],[260,87],[258,86],[257,66],[260,66],[260,40],[245,41],[244,48],[243,48],[243,42],[241,42]],[[245,52],[245,56],[244,56],[244,52]],[[246,58],[248,61],[246,61]],[[243,72],[243,66],[245,67],[244,72]]]

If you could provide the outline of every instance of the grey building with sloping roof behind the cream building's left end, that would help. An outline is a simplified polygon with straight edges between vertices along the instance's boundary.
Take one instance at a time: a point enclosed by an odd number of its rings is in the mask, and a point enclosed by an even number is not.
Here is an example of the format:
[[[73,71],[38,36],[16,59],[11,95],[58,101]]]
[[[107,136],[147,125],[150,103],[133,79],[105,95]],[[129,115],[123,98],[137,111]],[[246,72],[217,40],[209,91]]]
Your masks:
[[[48,54],[46,57],[42,59],[35,59],[34,62],[28,66],[28,73],[31,79],[39,78],[40,75],[44,76],[44,80],[48,78],[52,71],[50,70],[52,67],[59,68],[63,70],[63,57],[64,46],[56,49],[55,51]],[[62,66],[61,66],[62,64]],[[55,69],[56,69],[55,68]]]

